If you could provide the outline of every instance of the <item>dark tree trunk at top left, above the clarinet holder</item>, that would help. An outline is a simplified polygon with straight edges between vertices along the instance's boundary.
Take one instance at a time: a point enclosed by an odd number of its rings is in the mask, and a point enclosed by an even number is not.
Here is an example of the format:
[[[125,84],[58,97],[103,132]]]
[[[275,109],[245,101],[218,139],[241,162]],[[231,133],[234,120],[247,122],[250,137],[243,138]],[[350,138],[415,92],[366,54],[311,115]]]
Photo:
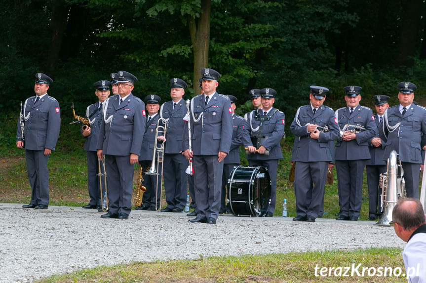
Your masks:
[[[51,41],[47,57],[47,68],[53,73],[59,62],[62,38],[67,27],[68,6],[64,0],[54,0],[52,3],[52,16],[50,21]]]

